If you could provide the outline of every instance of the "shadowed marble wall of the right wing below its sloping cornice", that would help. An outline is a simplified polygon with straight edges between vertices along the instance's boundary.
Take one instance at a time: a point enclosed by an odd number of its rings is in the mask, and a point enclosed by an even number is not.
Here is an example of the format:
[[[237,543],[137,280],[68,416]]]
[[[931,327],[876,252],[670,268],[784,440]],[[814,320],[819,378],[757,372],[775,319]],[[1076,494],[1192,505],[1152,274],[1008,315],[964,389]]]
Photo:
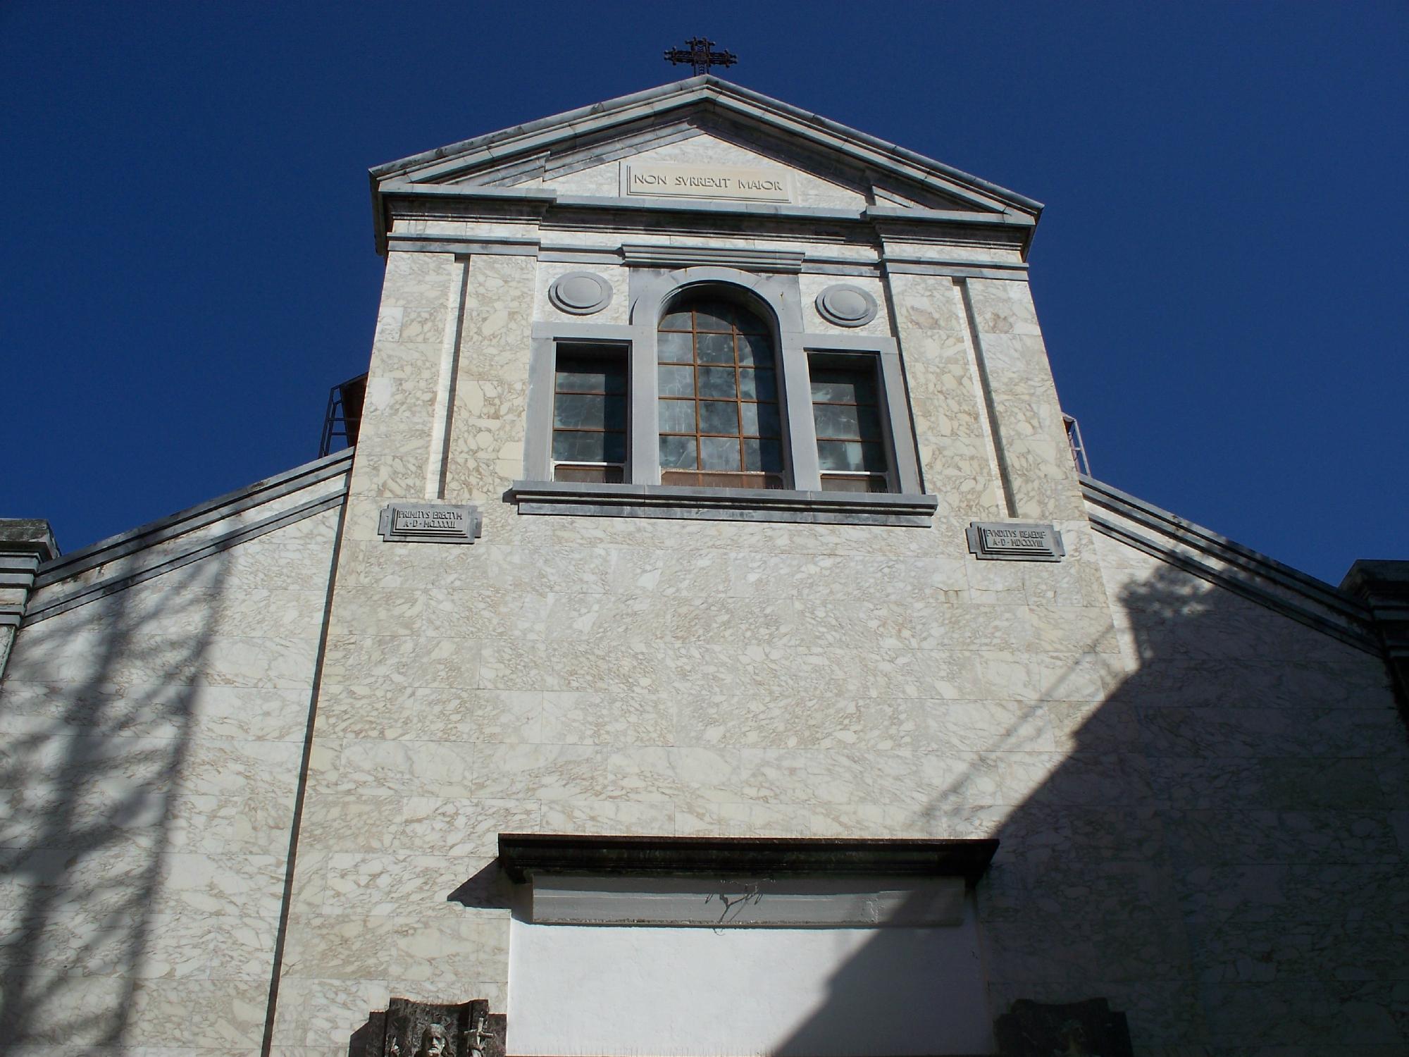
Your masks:
[[[1392,1051],[1409,738],[1384,661],[1106,536],[1096,554],[1130,671],[1078,744],[1129,746],[1144,789],[1126,833],[1081,836],[1131,871],[1167,871],[1164,888],[1131,892],[1162,908],[1188,958],[1151,1015],[1209,1053]],[[1027,884],[1085,872],[1034,867]]]

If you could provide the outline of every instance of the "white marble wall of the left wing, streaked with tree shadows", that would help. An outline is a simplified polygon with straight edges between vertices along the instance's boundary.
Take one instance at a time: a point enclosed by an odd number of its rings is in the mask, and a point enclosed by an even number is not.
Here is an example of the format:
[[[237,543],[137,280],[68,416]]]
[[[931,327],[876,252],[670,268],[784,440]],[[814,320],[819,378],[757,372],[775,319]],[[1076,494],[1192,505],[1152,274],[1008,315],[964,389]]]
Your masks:
[[[0,1025],[15,1053],[258,1053],[337,517],[20,631],[0,684]]]

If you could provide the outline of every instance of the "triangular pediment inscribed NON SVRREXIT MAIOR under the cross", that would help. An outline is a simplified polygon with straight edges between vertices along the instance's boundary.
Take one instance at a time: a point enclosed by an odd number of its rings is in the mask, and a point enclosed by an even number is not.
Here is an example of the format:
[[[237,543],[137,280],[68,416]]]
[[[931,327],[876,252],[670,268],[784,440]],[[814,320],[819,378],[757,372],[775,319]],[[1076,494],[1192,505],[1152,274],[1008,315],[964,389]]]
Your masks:
[[[943,162],[713,76],[389,162],[375,168],[372,179],[378,190],[397,185],[542,189],[588,199],[619,197],[628,187],[635,196],[651,196],[647,180],[654,179],[662,185],[662,197],[688,199],[719,197],[690,190],[707,186],[719,172],[759,183],[762,200],[803,207],[1034,220],[1041,210],[1031,199]],[[786,190],[769,196],[771,180]],[[666,183],[672,186],[664,189]]]

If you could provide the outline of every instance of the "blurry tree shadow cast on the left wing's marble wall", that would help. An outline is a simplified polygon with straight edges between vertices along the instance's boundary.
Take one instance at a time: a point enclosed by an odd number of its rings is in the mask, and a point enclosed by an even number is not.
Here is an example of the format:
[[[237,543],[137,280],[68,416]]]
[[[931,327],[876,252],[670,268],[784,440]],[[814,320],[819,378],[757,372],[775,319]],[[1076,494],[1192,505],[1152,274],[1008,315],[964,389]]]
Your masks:
[[[139,571],[114,562],[103,581]],[[228,552],[20,630],[0,684],[0,1054],[124,1041]]]

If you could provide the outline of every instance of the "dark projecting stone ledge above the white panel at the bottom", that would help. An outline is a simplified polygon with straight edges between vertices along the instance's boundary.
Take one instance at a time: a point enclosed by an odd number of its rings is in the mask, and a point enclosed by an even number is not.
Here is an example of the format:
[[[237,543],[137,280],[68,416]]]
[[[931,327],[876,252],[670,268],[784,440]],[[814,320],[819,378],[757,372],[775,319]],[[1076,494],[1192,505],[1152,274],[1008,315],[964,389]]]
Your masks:
[[[499,865],[516,884],[534,872],[599,875],[962,877],[974,885],[998,851],[986,839],[595,837],[500,833]]]

